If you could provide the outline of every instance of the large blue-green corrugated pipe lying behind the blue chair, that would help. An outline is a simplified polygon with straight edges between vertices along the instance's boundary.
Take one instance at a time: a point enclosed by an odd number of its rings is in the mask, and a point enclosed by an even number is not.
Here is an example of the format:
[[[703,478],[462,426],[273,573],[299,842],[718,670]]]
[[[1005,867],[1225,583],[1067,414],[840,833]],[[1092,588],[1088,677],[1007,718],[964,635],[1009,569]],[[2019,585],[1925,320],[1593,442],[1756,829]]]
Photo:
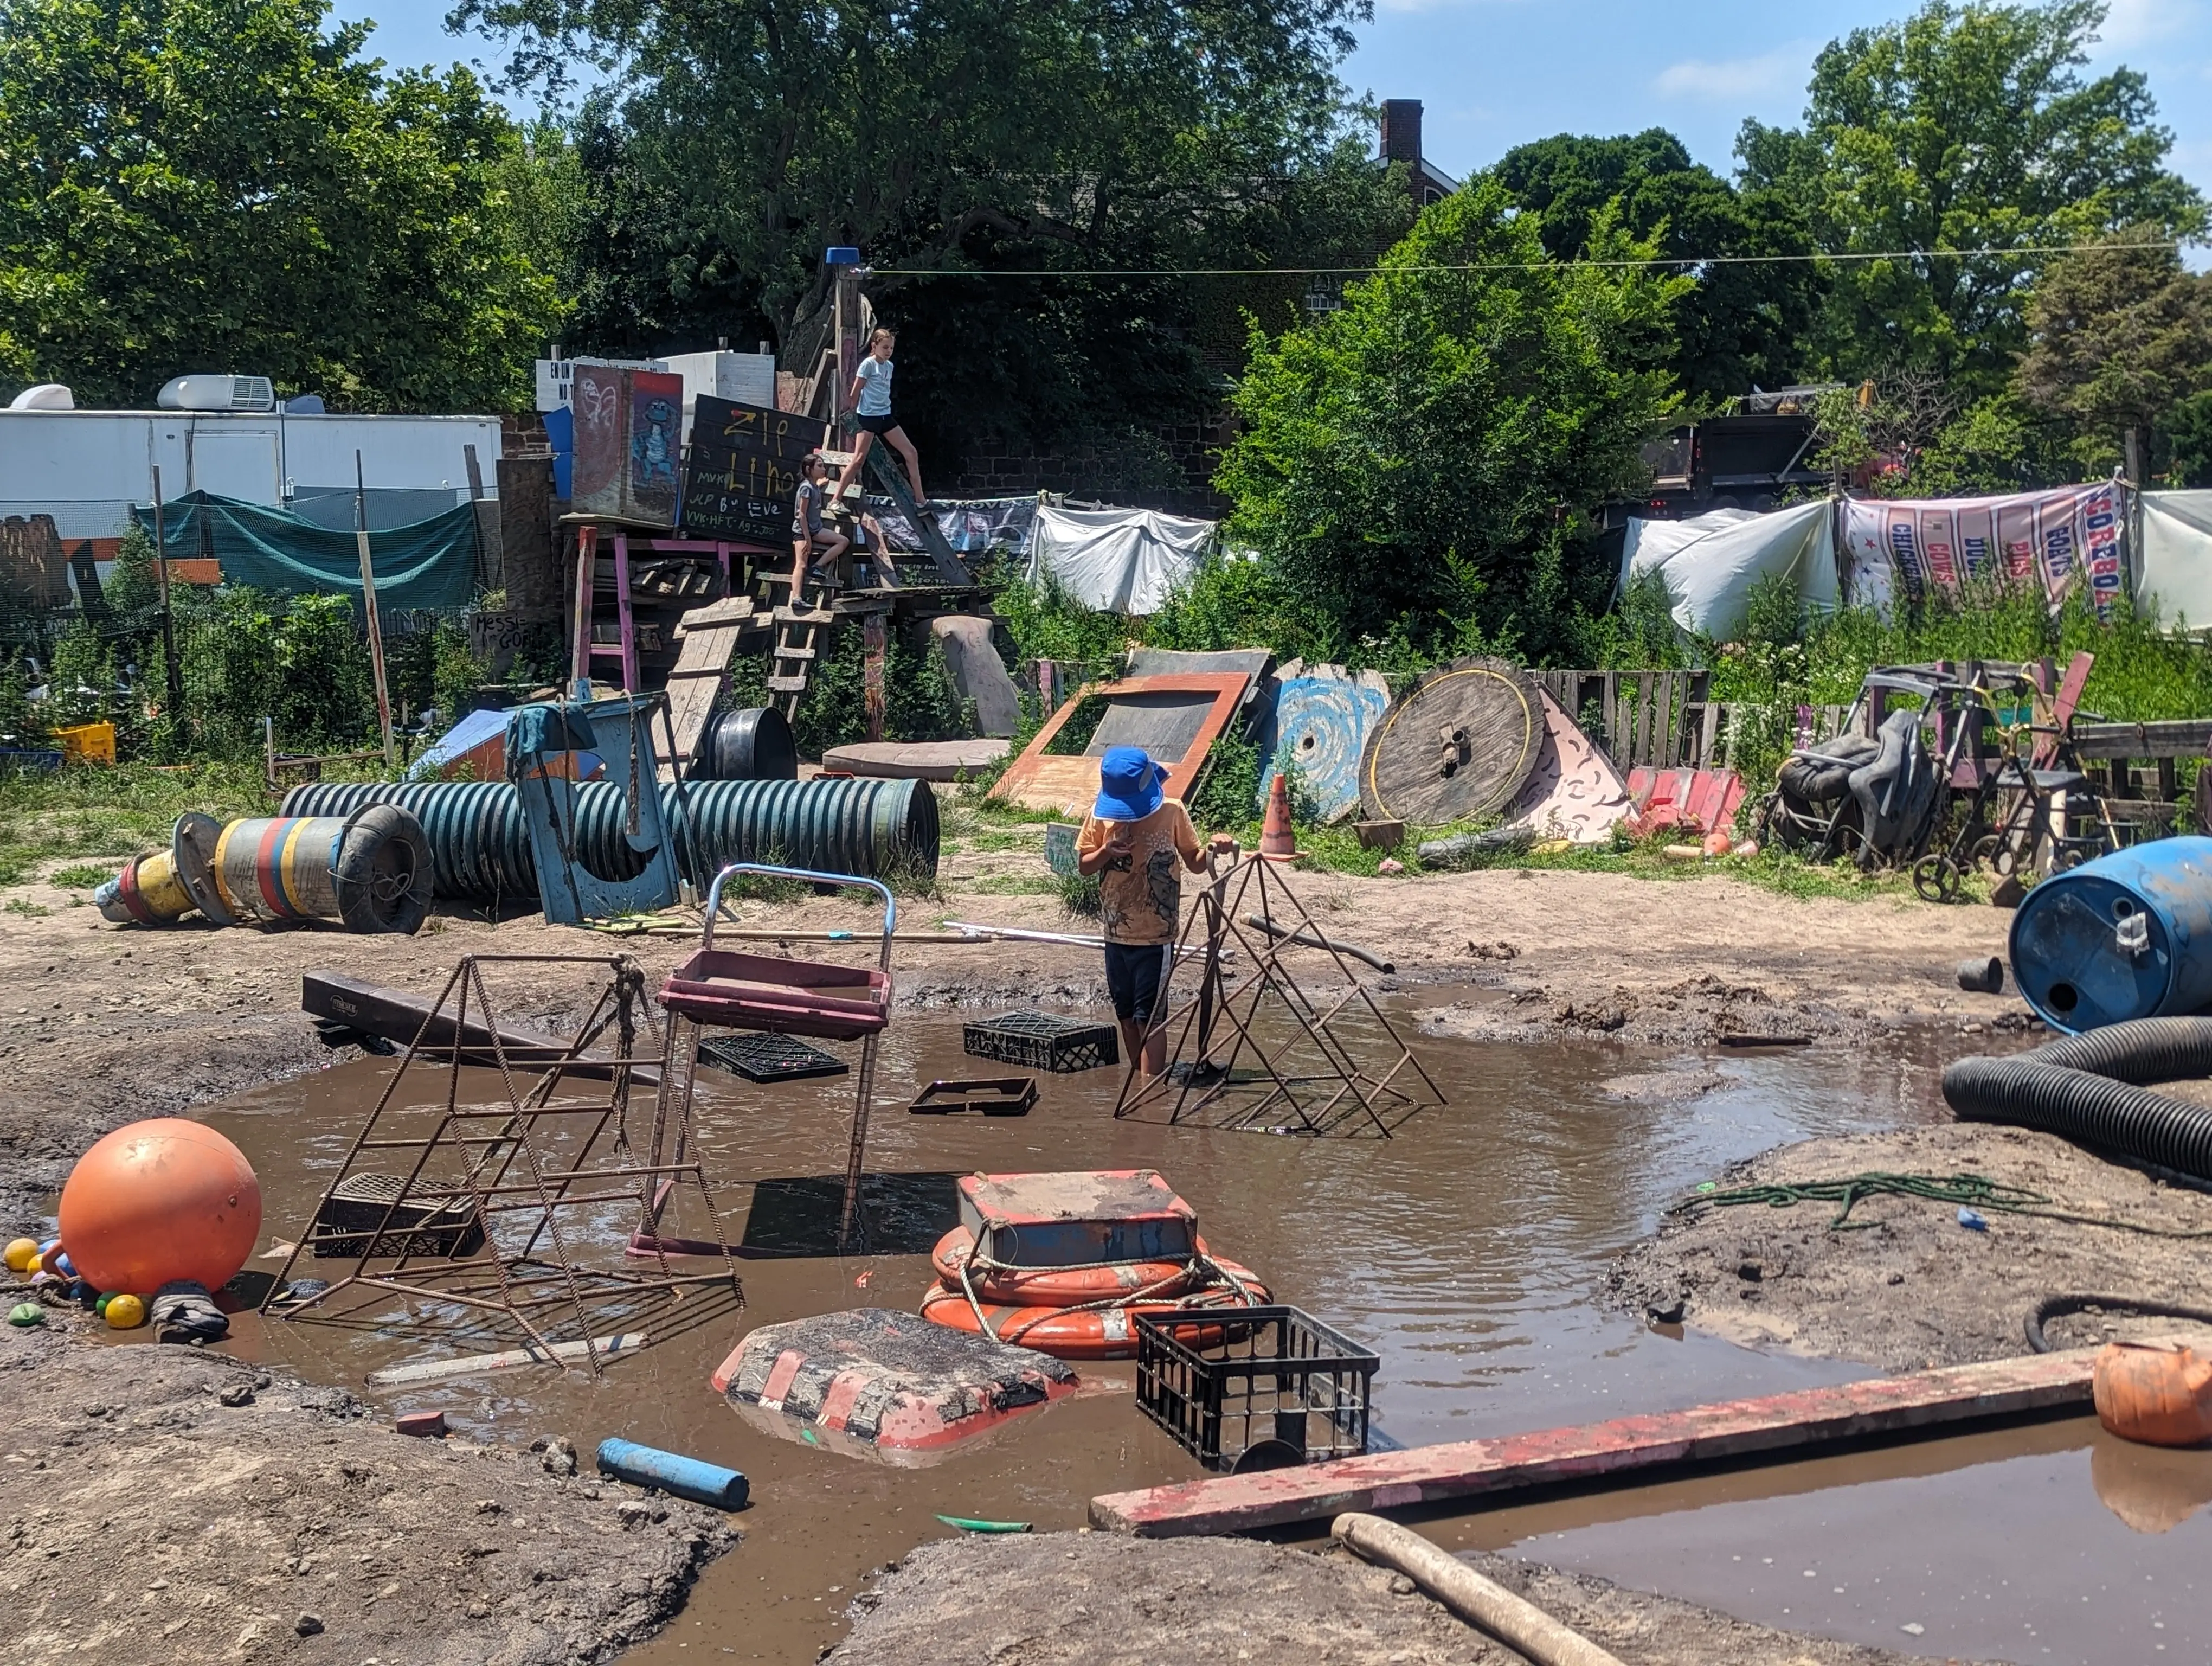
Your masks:
[[[469,903],[531,903],[538,867],[507,781],[307,781],[283,814],[347,816],[369,803],[411,810],[431,847],[436,894]],[[927,781],[690,781],[661,788],[677,827],[677,870],[701,889],[717,870],[781,861],[832,874],[938,872],[938,801]],[[577,856],[599,878],[635,878],[646,863],[624,836],[622,790],[586,783]]]

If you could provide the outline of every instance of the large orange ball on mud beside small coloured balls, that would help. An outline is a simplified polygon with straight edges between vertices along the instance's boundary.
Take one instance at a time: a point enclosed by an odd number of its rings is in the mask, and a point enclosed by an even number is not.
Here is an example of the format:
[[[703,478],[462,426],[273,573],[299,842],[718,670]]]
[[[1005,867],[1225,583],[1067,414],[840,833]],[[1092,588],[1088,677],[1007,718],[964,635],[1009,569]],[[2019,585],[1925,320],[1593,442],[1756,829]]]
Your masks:
[[[184,1117],[133,1122],[77,1157],[62,1186],[62,1241],[93,1290],[215,1290],[261,1237],[261,1181],[246,1153]]]

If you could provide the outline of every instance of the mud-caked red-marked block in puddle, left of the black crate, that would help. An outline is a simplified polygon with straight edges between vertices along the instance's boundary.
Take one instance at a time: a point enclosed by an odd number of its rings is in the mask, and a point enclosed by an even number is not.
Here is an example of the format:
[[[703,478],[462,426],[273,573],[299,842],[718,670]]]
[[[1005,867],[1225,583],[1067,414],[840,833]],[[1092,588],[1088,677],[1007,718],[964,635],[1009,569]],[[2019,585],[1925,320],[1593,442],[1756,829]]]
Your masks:
[[[794,1319],[750,1332],[714,1372],[739,1412],[867,1447],[927,1449],[1075,1389],[1051,1354],[969,1336],[894,1308]],[[845,1445],[845,1443],[832,1443]],[[849,1447],[847,1447],[849,1449]]]

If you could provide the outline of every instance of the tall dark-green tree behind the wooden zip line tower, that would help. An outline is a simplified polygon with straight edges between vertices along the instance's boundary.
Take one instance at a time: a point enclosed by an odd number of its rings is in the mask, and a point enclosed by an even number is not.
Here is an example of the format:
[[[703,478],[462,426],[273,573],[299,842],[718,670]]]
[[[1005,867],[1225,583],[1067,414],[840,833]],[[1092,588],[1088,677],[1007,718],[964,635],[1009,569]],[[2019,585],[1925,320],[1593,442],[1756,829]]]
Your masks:
[[[927,449],[1135,445],[1130,467],[1155,471],[1130,431],[1214,400],[1203,339],[1241,347],[1248,299],[1091,274],[1365,263],[1402,235],[1402,186],[1391,197],[1365,146],[1343,144],[1332,64],[1363,15],[1365,0],[453,13],[507,33],[513,84],[557,84],[575,58],[622,64],[575,126],[575,341],[770,339],[785,369],[812,369],[821,254],[858,246],[902,272],[869,296],[902,330],[900,416]],[[991,270],[1066,277],[973,277]]]

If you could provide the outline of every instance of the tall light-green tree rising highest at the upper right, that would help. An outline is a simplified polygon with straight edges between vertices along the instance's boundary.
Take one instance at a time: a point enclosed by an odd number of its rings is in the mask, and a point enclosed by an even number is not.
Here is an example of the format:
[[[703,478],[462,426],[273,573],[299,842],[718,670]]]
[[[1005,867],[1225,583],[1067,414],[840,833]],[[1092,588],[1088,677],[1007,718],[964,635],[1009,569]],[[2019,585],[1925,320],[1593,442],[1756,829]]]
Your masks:
[[[2070,246],[2121,226],[2203,228],[2166,168],[2172,133],[2139,71],[2086,80],[2101,0],[1949,4],[1856,29],[1814,62],[1803,128],[1745,122],[1747,190],[1778,190],[1836,265],[1816,352],[1849,378],[1911,365],[1962,396],[2004,387],[2026,345],[2039,254],[1933,248]]]

